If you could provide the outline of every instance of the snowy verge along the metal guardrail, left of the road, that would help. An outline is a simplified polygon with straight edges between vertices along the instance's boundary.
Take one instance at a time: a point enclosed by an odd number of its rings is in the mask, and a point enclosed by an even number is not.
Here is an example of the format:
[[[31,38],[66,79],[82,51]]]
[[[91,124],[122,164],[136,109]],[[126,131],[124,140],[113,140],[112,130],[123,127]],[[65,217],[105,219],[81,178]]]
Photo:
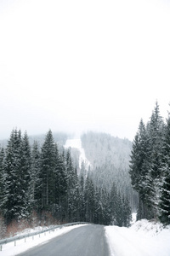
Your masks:
[[[64,235],[65,233],[79,228],[84,224],[77,224],[74,226],[69,226],[69,227],[63,227],[62,229],[58,229],[55,231],[49,231],[46,233],[42,233],[39,237],[39,235],[34,236],[32,238],[32,236],[27,237],[26,238],[26,242],[25,239],[21,239],[21,240],[17,240],[16,241],[16,246],[14,246],[14,241],[7,243],[6,245],[3,245],[2,248],[2,252],[0,251],[0,256],[14,256],[17,255],[19,253],[23,253],[26,250],[30,249],[31,247],[35,247],[39,244],[44,244],[46,242],[48,242],[50,239],[56,237],[56,236],[60,236],[60,235]],[[28,233],[32,233],[39,230],[38,228],[35,230],[25,230],[24,232],[21,232],[19,235],[24,235],[24,233],[28,234]]]

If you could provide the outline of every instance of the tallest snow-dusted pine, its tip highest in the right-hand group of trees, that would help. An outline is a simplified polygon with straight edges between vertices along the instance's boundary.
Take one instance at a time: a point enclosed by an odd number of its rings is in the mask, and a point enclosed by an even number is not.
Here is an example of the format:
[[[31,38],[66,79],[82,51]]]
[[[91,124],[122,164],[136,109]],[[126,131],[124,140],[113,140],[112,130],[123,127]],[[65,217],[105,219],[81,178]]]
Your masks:
[[[146,176],[146,186],[148,188],[147,198],[150,205],[150,218],[157,218],[159,215],[159,201],[161,195],[161,150],[164,134],[164,123],[160,115],[159,106],[156,107],[150,117],[148,124],[149,132],[149,155],[148,173]]]

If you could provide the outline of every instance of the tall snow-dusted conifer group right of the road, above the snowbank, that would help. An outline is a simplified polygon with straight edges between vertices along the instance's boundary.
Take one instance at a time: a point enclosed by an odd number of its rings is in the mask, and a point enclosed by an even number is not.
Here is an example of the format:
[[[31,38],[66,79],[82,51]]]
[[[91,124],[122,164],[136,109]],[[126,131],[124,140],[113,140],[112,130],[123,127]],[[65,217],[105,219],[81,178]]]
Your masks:
[[[170,115],[166,122],[160,115],[159,105],[133,140],[130,160],[133,189],[139,193],[137,219],[159,218],[170,224]]]

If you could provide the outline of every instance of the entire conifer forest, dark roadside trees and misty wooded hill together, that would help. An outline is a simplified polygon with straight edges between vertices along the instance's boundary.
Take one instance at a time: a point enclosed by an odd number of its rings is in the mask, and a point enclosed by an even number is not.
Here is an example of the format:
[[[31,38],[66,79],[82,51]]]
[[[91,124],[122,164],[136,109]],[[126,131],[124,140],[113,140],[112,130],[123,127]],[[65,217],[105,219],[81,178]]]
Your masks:
[[[49,130],[31,141],[14,129],[0,148],[0,236],[14,221],[33,225],[85,221],[130,225],[137,219],[170,224],[170,117],[156,102],[133,143],[104,133],[82,134],[91,166],[78,166],[78,153],[56,143]],[[107,148],[104,150],[104,148]]]

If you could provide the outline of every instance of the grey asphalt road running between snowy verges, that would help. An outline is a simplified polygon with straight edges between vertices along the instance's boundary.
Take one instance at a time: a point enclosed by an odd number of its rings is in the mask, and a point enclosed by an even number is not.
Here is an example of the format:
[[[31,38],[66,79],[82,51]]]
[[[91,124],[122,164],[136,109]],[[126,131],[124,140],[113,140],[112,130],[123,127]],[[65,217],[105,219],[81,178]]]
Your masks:
[[[18,256],[109,256],[102,225],[85,225]]]

